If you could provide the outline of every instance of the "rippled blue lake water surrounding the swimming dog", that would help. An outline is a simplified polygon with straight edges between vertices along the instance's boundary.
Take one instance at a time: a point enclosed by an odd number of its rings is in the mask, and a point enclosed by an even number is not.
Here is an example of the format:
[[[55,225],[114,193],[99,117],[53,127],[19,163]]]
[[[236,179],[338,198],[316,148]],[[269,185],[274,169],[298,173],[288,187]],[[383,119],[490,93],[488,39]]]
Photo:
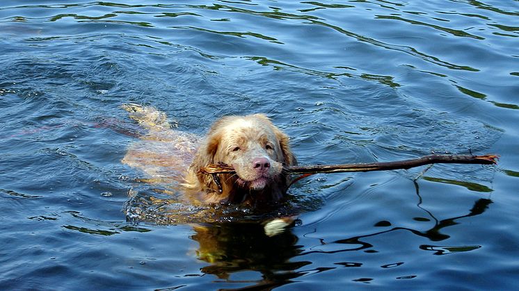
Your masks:
[[[517,288],[518,16],[516,0],[1,1],[1,289]],[[298,223],[267,236],[250,209],[165,219],[168,193],[121,163],[143,135],[126,103],[196,135],[265,113],[303,165],[501,158],[314,175],[289,190]]]

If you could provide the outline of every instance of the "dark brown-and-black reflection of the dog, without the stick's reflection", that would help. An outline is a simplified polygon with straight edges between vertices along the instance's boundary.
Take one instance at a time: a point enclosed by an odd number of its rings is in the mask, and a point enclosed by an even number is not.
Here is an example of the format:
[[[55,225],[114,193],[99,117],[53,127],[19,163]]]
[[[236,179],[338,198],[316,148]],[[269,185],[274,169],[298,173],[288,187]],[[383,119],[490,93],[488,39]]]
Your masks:
[[[195,226],[191,239],[199,244],[196,256],[209,265],[200,270],[228,280],[230,274],[254,271],[261,274],[251,280],[248,288],[274,288],[301,276],[296,272],[308,261],[291,260],[301,253],[297,236],[285,231],[275,236],[265,234],[264,227],[255,223],[227,223]]]

